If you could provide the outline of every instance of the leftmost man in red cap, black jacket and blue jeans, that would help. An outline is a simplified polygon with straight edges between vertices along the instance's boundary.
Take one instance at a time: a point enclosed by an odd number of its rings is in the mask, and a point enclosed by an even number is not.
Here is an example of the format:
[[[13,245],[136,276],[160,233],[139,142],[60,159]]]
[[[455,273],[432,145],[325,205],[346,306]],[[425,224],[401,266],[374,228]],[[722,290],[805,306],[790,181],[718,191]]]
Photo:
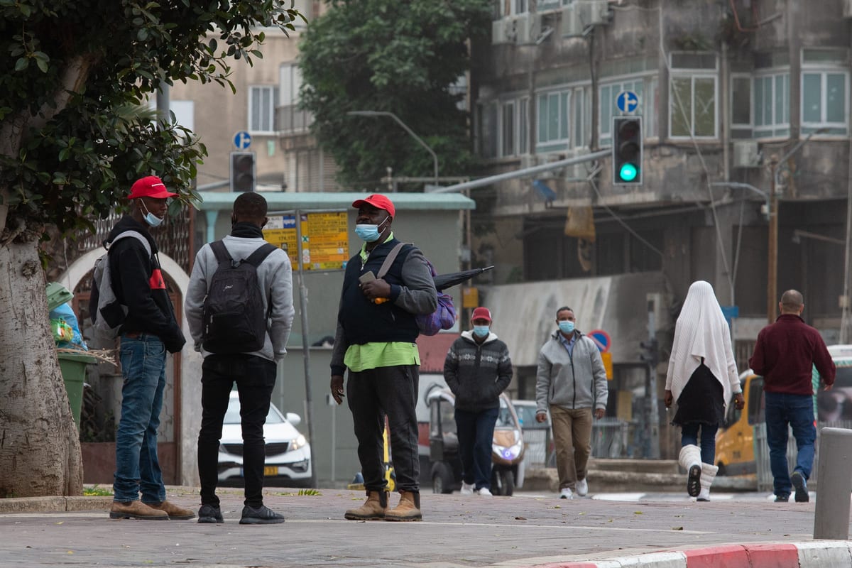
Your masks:
[[[189,509],[166,501],[157,458],[165,353],[178,353],[186,340],[177,324],[159,266],[157,244],[148,227],[163,222],[167,202],[176,195],[154,175],[137,180],[130,188],[130,215],[124,215],[107,238],[112,290],[127,309],[120,330],[124,385],[115,438],[111,519],[195,516]],[[117,238],[122,233],[125,235]]]

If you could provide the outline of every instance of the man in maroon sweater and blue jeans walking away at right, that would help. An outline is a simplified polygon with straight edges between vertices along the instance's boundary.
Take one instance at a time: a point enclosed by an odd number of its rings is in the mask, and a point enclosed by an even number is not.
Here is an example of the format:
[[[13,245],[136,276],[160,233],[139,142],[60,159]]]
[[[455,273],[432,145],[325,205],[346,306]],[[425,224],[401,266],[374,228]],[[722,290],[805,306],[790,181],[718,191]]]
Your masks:
[[[781,315],[757,334],[751,370],[763,376],[766,398],[766,441],[774,478],[775,502],[807,502],[808,479],[814,465],[814,388],[812,369],[820,372],[826,390],[834,384],[834,362],[820,332],[804,323],[804,301],[797,290],[787,290],[778,305]],[[787,425],[796,438],[796,468],[787,472]]]

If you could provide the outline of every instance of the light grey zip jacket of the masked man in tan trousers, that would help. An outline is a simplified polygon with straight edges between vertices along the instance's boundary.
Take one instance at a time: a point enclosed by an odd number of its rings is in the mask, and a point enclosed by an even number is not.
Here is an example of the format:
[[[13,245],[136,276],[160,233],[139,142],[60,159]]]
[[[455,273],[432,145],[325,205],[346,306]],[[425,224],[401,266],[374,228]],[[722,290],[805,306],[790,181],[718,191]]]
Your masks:
[[[573,356],[559,341],[559,331],[538,352],[536,411],[550,404],[566,409],[607,408],[607,371],[594,341],[574,331]]]

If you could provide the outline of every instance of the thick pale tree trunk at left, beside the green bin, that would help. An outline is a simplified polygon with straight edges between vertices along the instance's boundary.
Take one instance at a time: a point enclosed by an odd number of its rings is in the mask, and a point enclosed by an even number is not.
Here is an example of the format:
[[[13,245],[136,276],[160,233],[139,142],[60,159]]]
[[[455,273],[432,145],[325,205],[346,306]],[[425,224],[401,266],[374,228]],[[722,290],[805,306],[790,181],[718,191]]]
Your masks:
[[[0,497],[81,495],[83,462],[37,242],[0,246]]]

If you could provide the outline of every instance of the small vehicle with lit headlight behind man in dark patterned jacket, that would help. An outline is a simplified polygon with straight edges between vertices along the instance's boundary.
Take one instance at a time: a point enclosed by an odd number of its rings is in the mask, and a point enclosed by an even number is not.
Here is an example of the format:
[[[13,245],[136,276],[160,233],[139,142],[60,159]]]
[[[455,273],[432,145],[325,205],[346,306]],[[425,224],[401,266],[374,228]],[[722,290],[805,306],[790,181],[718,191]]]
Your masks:
[[[429,473],[435,493],[452,493],[462,483],[455,400],[449,388],[435,387],[426,395],[429,406]],[[516,487],[523,485],[523,458],[521,422],[504,393],[500,395],[500,411],[492,439],[492,494],[511,496]]]

